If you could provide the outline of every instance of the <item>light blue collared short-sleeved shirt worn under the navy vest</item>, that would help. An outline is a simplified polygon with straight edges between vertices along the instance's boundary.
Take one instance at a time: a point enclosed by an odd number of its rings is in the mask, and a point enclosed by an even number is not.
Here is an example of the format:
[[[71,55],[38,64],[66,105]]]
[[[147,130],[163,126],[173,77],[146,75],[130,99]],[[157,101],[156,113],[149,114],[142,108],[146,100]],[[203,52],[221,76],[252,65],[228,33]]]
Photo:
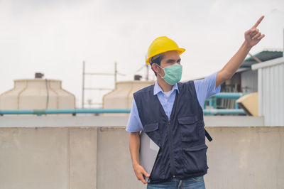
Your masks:
[[[211,97],[212,95],[217,94],[221,90],[220,86],[216,88],[216,77],[217,77],[217,72],[215,72],[212,75],[209,75],[208,77],[205,77],[202,80],[194,81],[197,99],[202,109],[205,100]],[[176,92],[180,92],[178,90],[178,84],[173,85],[172,90],[168,92],[170,95],[167,97],[166,94],[167,92],[163,92],[163,90],[160,88],[160,85],[158,85],[158,82],[157,81],[155,82],[153,95],[158,96],[160,104],[162,104],[162,107],[165,110],[165,114],[167,114],[168,119],[170,119],[170,113],[172,112],[173,109],[173,103],[175,102]],[[126,131],[129,132],[143,131],[143,125],[141,123],[138,114],[137,105],[134,99],[132,102],[131,112],[129,115],[129,122],[126,126]]]

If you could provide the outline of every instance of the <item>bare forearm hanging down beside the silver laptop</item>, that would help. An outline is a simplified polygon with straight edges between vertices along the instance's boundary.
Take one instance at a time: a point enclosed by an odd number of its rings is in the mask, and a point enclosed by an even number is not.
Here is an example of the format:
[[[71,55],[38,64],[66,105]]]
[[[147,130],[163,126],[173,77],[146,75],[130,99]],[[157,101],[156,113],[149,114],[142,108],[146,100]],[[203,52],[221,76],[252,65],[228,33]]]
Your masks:
[[[132,165],[139,164],[140,134],[139,132],[129,134],[129,151],[132,158]]]

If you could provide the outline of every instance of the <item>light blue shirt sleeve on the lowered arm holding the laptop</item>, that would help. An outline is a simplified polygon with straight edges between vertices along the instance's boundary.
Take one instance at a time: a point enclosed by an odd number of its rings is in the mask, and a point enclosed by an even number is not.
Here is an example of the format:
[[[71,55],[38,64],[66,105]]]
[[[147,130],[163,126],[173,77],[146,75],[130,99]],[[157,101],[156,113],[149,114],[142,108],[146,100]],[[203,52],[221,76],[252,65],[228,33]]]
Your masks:
[[[143,126],[142,126],[141,119],[138,114],[138,109],[137,109],[135,99],[133,99],[133,102],[132,102],[131,112],[129,115],[129,122],[126,126],[126,131],[129,131],[129,132],[143,131]]]

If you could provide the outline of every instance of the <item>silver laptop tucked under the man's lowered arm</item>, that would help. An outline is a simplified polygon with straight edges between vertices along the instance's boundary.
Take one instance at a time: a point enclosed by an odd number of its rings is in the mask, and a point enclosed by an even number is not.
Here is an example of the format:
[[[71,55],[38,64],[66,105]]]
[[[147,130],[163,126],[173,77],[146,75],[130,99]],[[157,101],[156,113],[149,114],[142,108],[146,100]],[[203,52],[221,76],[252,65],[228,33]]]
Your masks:
[[[155,158],[157,158],[160,147],[155,144],[152,139],[145,132],[141,132],[140,134],[140,153],[139,160],[141,166],[145,169],[147,173],[151,175]],[[146,182],[148,182],[149,178],[144,176]]]

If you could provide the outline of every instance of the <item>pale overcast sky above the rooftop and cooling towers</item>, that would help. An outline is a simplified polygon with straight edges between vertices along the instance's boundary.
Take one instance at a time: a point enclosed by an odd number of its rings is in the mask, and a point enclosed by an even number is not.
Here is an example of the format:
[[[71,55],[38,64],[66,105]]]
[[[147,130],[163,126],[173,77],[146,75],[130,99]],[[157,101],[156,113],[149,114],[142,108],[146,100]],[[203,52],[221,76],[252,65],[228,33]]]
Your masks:
[[[80,107],[83,60],[87,72],[114,72],[117,62],[125,75],[118,80],[132,80],[145,75],[136,71],[158,36],[186,49],[183,81],[205,77],[223,68],[262,15],[258,28],[266,37],[251,53],[282,49],[283,0],[0,0],[0,93],[13,88],[13,80],[43,72],[62,80]],[[86,87],[114,87],[113,81],[86,77]],[[95,96],[86,92],[85,98]]]

